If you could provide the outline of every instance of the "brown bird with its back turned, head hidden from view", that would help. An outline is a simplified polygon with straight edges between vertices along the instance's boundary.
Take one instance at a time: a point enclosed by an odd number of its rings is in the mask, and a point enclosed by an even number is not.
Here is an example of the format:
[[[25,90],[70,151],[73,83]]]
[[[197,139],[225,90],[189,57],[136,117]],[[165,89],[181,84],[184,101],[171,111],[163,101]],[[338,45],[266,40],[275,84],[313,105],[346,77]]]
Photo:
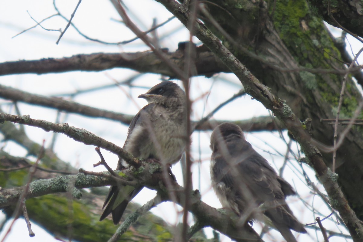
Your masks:
[[[307,233],[285,202],[287,196],[296,194],[294,189],[246,141],[239,126],[217,126],[210,147],[212,186],[224,208],[244,222],[272,223],[287,242],[297,242],[291,230]]]

